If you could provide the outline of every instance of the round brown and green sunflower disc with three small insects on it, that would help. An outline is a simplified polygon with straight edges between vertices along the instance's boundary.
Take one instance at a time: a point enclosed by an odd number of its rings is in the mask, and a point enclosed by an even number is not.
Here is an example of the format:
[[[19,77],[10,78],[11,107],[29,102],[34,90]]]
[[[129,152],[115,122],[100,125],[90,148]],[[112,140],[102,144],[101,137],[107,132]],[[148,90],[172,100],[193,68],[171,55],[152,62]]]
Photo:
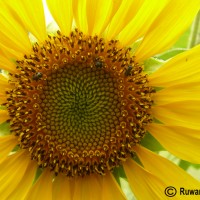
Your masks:
[[[129,51],[75,30],[17,61],[7,92],[11,131],[39,167],[104,175],[134,154],[151,122],[153,89]]]

